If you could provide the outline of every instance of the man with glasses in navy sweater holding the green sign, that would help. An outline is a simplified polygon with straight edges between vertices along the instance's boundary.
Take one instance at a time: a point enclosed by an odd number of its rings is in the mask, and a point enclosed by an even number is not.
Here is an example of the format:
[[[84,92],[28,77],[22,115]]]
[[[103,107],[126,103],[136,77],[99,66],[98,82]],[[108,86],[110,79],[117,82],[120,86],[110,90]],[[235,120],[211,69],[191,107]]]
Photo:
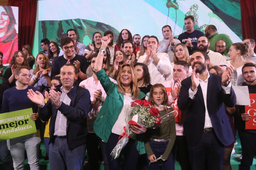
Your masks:
[[[33,134],[8,139],[7,146],[9,147],[12,155],[14,169],[24,169],[25,148],[27,151],[30,169],[39,169],[38,151],[41,141],[39,131],[40,119],[37,119],[37,104],[30,101],[27,97],[29,89],[33,89],[33,91],[39,91],[39,89],[28,85],[32,77],[29,67],[20,66],[16,68],[14,76],[17,80],[17,86],[5,90],[0,113],[32,108],[33,114],[31,114],[30,119],[35,121],[38,130]]]

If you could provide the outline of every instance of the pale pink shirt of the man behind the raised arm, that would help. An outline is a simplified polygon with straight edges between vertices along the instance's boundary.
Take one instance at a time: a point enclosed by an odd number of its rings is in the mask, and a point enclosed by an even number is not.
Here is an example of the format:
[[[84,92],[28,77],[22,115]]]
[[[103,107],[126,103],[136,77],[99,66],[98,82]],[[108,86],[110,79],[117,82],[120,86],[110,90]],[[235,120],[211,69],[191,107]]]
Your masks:
[[[110,77],[109,77],[109,79],[110,79],[110,81],[112,81],[115,84],[117,84],[114,79],[111,79]],[[86,80],[83,80],[79,84],[79,86],[87,89],[90,92],[91,101],[93,101],[94,91],[97,91],[97,90],[101,90],[102,97],[104,97],[104,98],[107,97],[107,94],[104,91],[102,85],[100,84],[100,81],[98,81],[98,84],[96,84],[96,81],[94,80],[93,76],[89,77]],[[96,119],[96,116],[98,115],[101,107],[102,106],[100,106],[100,101],[98,101],[96,104],[94,104],[92,106],[92,109],[88,113],[88,116],[87,116],[87,131],[90,132],[90,133],[94,133],[93,123],[94,123],[94,120]]]

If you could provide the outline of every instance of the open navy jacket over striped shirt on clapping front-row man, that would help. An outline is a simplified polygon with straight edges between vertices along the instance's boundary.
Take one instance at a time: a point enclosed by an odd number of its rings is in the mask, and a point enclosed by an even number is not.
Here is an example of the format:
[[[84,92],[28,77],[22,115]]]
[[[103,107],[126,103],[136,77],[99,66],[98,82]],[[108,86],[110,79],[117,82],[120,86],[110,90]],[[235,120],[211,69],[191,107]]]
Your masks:
[[[56,88],[56,91],[60,91],[60,87]],[[38,114],[42,121],[48,121],[51,117],[49,131],[50,141],[54,143],[54,129],[58,110],[61,114],[67,117],[67,143],[68,148],[73,150],[84,143],[86,143],[87,124],[86,116],[89,113],[91,107],[90,93],[87,89],[79,87],[76,83],[69,93],[68,97],[71,99],[70,105],[61,103],[60,107],[56,109],[49,100],[44,107],[38,108]]]

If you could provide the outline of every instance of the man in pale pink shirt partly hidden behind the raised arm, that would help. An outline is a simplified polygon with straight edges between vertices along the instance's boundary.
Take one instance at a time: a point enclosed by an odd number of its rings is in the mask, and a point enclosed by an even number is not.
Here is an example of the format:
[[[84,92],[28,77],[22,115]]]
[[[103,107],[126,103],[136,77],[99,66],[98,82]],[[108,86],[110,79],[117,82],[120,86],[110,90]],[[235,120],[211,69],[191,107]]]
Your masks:
[[[87,140],[86,140],[86,148],[87,153],[89,156],[89,169],[97,169],[98,161],[99,161],[99,144],[101,146],[102,154],[103,154],[103,161],[104,161],[104,169],[108,169],[108,160],[105,155],[105,143],[103,141],[100,141],[100,138],[95,134],[93,130],[93,123],[102,107],[102,104],[105,101],[105,98],[107,97],[106,92],[104,91],[102,85],[100,84],[100,81],[98,80],[98,77],[94,73],[94,66],[95,61],[98,56],[98,53],[93,54],[91,58],[91,68],[93,70],[92,76],[88,79],[82,81],[79,86],[83,87],[87,90],[89,90],[91,95],[91,110],[89,111],[89,114],[87,116]],[[102,68],[105,67],[104,61],[102,63]],[[109,79],[117,84],[117,82],[110,78]]]

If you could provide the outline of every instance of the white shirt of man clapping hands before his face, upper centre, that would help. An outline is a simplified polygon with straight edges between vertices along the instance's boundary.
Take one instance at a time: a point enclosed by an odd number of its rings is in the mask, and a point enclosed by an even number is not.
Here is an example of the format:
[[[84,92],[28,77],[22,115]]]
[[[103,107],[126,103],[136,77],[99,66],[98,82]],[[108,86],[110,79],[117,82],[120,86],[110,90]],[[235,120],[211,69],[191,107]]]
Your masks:
[[[143,63],[146,56],[147,55],[140,56],[137,62]],[[153,58],[146,64],[150,73],[150,84],[152,85],[156,83],[163,83],[166,80],[166,77],[173,73],[169,55],[167,53],[157,52],[156,56],[160,59],[157,65]]]

